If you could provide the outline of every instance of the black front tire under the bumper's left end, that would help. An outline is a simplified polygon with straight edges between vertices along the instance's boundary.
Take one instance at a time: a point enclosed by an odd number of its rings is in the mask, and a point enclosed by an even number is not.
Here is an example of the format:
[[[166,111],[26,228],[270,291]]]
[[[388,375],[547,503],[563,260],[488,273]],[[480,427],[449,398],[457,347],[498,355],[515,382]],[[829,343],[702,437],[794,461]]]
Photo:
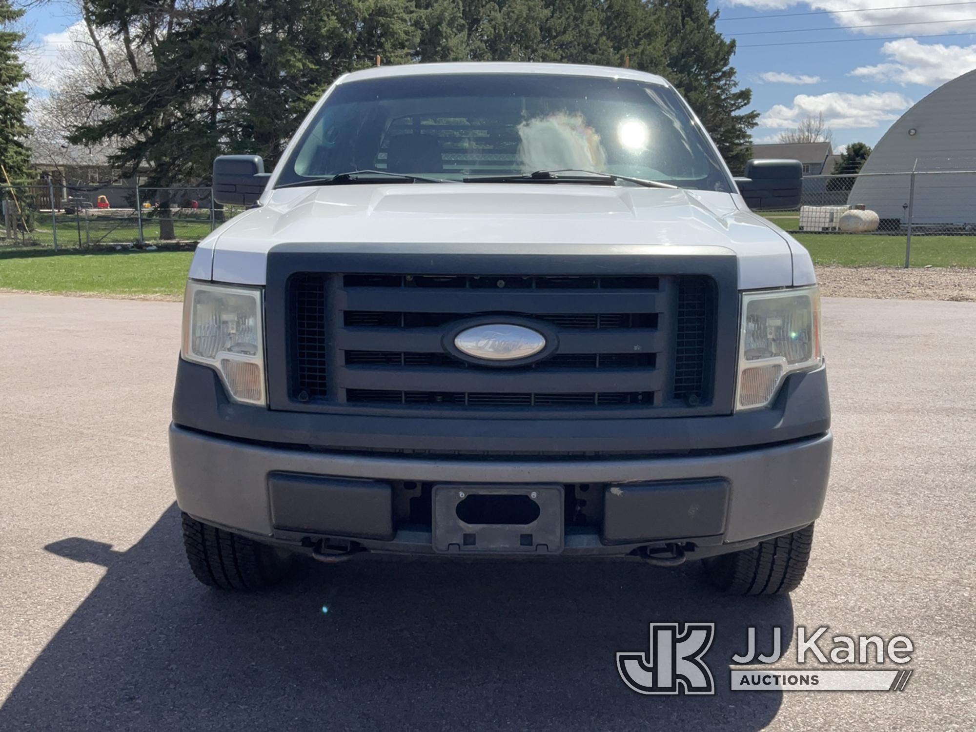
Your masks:
[[[290,558],[273,547],[183,513],[183,548],[197,580],[221,590],[264,590],[281,582]]]

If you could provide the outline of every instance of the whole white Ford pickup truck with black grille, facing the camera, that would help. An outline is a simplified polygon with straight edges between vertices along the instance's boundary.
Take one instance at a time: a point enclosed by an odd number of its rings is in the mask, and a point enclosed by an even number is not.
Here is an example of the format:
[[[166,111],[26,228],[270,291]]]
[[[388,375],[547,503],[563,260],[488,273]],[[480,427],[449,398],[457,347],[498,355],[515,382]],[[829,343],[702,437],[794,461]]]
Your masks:
[[[664,79],[446,63],[347,74],[189,271],[170,448],[193,572],[296,552],[704,559],[793,590],[832,437],[806,250]]]

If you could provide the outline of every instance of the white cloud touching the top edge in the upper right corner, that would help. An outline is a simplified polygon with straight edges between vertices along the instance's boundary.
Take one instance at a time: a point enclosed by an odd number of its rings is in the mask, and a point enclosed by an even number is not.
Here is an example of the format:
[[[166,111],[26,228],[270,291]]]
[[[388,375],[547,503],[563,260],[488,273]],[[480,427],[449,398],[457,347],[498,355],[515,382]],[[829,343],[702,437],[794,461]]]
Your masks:
[[[811,27],[826,27],[832,24],[838,27],[850,28],[852,32],[863,33],[865,35],[904,35],[906,33],[959,33],[965,30],[976,29],[976,13],[973,13],[971,5],[956,5],[933,7],[942,4],[947,0],[886,0],[879,3],[878,0],[725,0],[723,5],[739,6],[752,8],[754,10],[786,10],[796,8],[797,12],[805,10],[822,11],[853,11],[850,13],[840,13],[834,16],[820,16],[809,19],[811,23],[816,20]],[[899,5],[905,7],[898,7]],[[884,9],[878,9],[878,5]],[[908,7],[915,6],[915,7]],[[943,22],[951,20],[953,22]],[[910,23],[922,22],[922,25],[911,25]],[[874,25],[874,27],[855,28],[855,25]],[[800,24],[802,26],[802,23]],[[719,26],[722,27],[722,26]],[[791,26],[795,27],[795,26]],[[737,28],[746,31],[746,28]],[[723,27],[723,30],[734,34],[731,27]],[[752,30],[752,28],[749,28]],[[798,38],[802,33],[787,33],[784,39]],[[748,36],[747,36],[748,37]]]

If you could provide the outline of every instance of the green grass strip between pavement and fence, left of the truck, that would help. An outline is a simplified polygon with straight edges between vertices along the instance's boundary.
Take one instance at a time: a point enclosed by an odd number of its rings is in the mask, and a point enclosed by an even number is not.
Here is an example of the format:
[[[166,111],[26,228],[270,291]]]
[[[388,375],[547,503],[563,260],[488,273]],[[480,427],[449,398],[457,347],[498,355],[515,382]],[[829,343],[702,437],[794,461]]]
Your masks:
[[[0,289],[48,293],[180,297],[193,253],[0,249]]]

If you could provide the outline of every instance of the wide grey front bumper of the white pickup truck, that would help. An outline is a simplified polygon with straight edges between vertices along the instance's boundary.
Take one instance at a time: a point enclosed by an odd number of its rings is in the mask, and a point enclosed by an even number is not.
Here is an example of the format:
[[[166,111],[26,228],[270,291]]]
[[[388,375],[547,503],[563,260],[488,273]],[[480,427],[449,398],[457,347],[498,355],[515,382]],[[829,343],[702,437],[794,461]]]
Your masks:
[[[784,534],[814,521],[821,512],[827,490],[833,438],[829,431],[771,446],[752,446],[706,455],[671,455],[642,458],[464,460],[414,459],[405,456],[357,455],[305,448],[273,446],[215,436],[173,425],[170,452],[177,500],[195,518],[265,541],[310,548],[321,540],[351,541],[374,551],[432,552],[429,528],[397,525],[391,506],[378,487],[394,481],[425,484],[599,484],[607,493],[625,495],[630,485],[727,486],[721,512],[710,514],[705,533],[695,530],[698,508],[692,498],[685,505],[673,490],[662,491],[665,500],[644,500],[636,510],[646,515],[648,526],[661,526],[662,512],[671,511],[680,526],[676,536],[632,536],[633,504],[628,510],[606,510],[599,525],[578,531],[567,529],[564,554],[628,554],[634,549],[684,544],[692,556],[707,556],[742,549],[756,541]],[[275,525],[272,493],[289,479],[301,483],[305,496],[314,496],[316,481],[338,485],[341,490],[335,512],[340,524],[330,524],[328,501],[318,502],[323,524]],[[677,486],[685,484],[677,483]],[[277,486],[277,487],[275,487]],[[616,491],[611,486],[617,486]],[[330,489],[332,490],[332,489]],[[653,492],[652,492],[653,493]],[[653,494],[654,496],[658,494]],[[694,492],[689,491],[689,496]],[[610,495],[607,495],[610,499]],[[349,508],[354,508],[349,510]],[[714,508],[714,507],[712,507]],[[636,519],[636,520],[635,520]],[[310,519],[311,524],[315,518]],[[623,526],[624,521],[628,525]],[[665,522],[667,523],[667,521]],[[337,531],[337,526],[342,529]],[[615,538],[627,537],[626,540]]]

